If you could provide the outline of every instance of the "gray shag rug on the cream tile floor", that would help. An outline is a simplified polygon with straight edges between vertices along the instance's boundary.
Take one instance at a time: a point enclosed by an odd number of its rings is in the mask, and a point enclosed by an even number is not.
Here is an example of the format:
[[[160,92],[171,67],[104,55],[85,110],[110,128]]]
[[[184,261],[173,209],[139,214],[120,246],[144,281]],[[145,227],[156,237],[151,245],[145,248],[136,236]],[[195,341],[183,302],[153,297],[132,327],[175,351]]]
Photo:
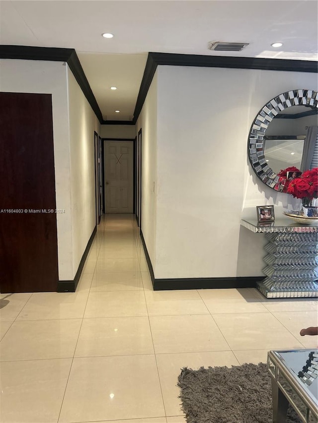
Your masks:
[[[184,367],[179,398],[188,423],[272,423],[272,388],[266,364]],[[289,407],[286,423],[301,423]]]

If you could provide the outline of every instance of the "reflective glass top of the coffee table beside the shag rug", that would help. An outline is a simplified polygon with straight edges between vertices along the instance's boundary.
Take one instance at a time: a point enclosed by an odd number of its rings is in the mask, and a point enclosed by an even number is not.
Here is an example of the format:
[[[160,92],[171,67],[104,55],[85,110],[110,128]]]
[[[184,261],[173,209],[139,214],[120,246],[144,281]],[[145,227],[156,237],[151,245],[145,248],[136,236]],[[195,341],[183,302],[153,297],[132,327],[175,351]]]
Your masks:
[[[270,351],[269,355],[288,369],[294,381],[317,404],[318,349]]]

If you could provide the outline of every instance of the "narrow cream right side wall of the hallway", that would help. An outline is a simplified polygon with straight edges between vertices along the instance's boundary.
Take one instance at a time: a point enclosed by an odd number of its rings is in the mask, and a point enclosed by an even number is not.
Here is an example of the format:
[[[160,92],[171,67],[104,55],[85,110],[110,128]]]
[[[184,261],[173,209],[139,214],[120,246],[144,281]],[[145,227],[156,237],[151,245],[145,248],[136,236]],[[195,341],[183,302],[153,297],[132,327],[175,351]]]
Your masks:
[[[142,232],[154,267],[156,266],[157,214],[157,72],[136,123],[142,129]]]

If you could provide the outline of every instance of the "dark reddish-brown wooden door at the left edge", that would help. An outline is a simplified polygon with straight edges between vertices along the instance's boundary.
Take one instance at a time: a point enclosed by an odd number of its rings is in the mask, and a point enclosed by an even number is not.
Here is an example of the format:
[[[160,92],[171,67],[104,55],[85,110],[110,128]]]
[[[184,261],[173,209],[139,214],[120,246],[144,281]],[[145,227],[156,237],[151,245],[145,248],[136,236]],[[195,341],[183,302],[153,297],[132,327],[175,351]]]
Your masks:
[[[0,292],[55,292],[50,94],[0,93]]]

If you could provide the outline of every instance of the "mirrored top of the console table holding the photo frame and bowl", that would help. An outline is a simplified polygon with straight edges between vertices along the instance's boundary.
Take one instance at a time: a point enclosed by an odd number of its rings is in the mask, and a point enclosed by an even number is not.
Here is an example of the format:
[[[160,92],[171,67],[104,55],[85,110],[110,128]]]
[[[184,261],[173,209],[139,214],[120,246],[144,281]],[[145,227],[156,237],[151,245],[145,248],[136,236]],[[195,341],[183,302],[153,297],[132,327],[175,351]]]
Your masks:
[[[240,224],[254,233],[262,232],[297,232],[297,233],[318,233],[317,222],[310,225],[292,223],[286,216],[275,219],[274,222],[257,222],[257,219],[241,219]]]

